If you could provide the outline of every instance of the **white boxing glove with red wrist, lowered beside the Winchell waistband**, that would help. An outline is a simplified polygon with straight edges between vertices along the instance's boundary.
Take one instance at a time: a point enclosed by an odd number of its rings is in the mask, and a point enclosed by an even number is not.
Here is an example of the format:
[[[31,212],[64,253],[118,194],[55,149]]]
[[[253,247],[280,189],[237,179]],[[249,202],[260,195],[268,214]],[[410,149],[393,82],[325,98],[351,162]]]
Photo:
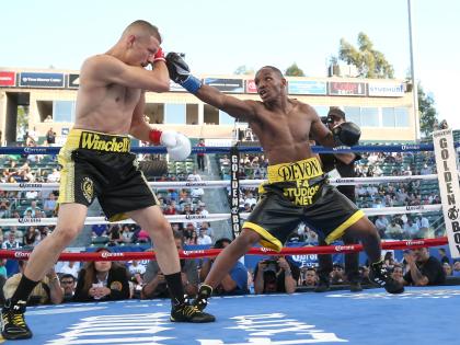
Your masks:
[[[191,140],[181,133],[152,129],[149,138],[156,145],[165,146],[170,158],[175,161],[185,160],[192,152]]]

